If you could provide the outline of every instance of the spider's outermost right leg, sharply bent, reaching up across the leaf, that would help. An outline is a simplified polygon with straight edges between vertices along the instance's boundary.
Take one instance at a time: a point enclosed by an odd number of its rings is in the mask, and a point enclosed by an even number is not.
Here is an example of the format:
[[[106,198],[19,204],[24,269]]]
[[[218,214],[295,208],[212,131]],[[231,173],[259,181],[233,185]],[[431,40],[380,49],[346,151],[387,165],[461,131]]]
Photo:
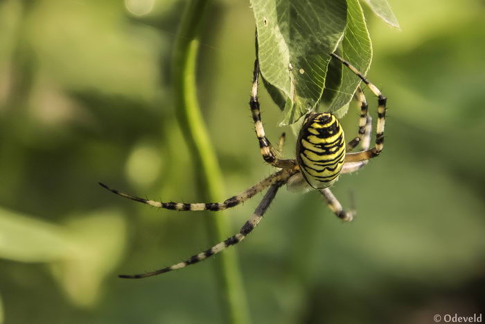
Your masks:
[[[340,60],[343,65],[346,67],[349,67],[353,73],[355,73],[366,85],[369,87],[371,92],[375,94],[378,97],[378,108],[377,108],[377,126],[376,126],[376,145],[371,148],[367,149],[365,151],[361,152],[356,152],[356,153],[347,153],[345,155],[345,162],[357,162],[357,161],[363,161],[363,160],[369,160],[372,157],[376,157],[380,154],[382,151],[382,148],[384,148],[384,127],[385,127],[385,121],[386,121],[386,102],[387,98],[382,95],[380,90],[373,85],[367,78],[365,78],[353,65],[351,65],[349,62],[341,58],[340,56],[337,56],[335,53],[331,53],[330,56],[333,58],[336,58],[337,60]]]

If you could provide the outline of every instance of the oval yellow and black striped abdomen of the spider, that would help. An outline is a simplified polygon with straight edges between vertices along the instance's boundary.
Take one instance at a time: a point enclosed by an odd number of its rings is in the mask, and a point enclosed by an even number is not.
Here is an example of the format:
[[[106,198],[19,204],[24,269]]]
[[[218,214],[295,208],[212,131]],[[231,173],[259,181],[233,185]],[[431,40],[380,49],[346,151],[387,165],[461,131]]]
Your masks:
[[[344,131],[333,114],[308,114],[301,126],[297,160],[306,182],[323,189],[337,180],[345,158]]]

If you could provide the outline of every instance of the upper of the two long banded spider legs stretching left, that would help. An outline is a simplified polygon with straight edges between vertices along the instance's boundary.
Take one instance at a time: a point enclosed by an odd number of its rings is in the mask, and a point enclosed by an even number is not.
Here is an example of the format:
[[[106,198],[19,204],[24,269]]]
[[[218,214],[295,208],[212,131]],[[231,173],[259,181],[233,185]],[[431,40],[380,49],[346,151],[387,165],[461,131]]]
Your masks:
[[[242,193],[232,196],[228,198],[224,203],[162,203],[161,201],[150,201],[148,199],[132,196],[129,194],[125,194],[121,191],[116,189],[112,189],[105,185],[104,183],[99,182],[99,185],[109,191],[114,192],[118,196],[122,196],[132,201],[138,201],[139,203],[145,203],[147,205],[151,205],[158,208],[165,208],[166,210],[177,210],[177,211],[200,211],[200,210],[210,210],[211,212],[218,212],[219,210],[226,210],[227,208],[231,208],[234,206],[239,205],[240,203],[244,203],[249,198],[252,198],[258,192],[263,191],[270,185],[274,184],[275,182],[281,181],[285,178],[289,178],[295,171],[283,169],[273,173],[271,176],[265,178],[261,182],[256,183],[256,185],[250,187],[249,189],[243,191]]]

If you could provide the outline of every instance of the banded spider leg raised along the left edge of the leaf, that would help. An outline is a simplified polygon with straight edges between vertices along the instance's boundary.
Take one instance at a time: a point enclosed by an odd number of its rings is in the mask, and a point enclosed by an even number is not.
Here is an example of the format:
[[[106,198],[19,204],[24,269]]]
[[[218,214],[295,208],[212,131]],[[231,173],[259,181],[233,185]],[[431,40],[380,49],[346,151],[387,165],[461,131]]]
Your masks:
[[[253,71],[253,85],[251,89],[251,99],[249,100],[249,107],[251,108],[251,113],[254,121],[254,130],[256,130],[256,137],[258,138],[259,148],[263,160],[278,168],[292,168],[297,165],[295,160],[281,160],[278,159],[272,149],[270,140],[267,139],[265,135],[265,129],[263,128],[263,123],[261,122],[261,110],[258,101],[258,78],[259,78],[259,62],[256,59],[254,61],[254,71]]]

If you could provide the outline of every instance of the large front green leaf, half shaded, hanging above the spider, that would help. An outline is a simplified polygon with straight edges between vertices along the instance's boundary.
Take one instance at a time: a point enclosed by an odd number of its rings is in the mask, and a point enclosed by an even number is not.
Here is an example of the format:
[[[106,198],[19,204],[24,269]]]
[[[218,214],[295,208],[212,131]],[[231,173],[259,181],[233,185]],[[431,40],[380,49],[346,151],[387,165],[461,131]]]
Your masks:
[[[324,90],[329,53],[346,26],[343,0],[252,0],[263,78],[286,97],[282,125],[313,110]]]

